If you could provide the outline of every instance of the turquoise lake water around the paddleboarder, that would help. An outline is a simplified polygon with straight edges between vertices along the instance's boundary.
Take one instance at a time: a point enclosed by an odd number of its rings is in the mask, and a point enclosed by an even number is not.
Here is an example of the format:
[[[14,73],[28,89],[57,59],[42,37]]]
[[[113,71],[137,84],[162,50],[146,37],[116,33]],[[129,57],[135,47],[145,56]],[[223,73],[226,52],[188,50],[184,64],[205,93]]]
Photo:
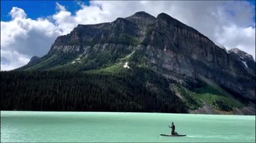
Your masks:
[[[1,142],[255,142],[255,115],[1,111]]]

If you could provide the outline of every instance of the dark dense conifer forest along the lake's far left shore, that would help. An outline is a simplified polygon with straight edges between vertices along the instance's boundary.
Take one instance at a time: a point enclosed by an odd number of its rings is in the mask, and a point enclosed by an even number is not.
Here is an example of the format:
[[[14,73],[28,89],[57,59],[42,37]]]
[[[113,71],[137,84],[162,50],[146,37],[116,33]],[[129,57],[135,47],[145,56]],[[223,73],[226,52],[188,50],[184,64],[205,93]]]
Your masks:
[[[185,112],[168,82],[141,68],[113,74],[1,72],[1,110]]]

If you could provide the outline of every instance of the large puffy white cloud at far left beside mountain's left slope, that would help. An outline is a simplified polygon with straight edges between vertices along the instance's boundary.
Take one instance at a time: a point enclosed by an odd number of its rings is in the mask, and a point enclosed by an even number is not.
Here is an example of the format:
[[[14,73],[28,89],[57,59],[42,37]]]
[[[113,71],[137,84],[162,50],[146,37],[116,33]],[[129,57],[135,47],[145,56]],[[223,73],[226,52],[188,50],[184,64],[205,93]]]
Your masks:
[[[22,9],[13,9],[11,21],[1,21],[1,70],[23,66],[34,55],[43,56],[61,34],[48,19],[26,18]]]

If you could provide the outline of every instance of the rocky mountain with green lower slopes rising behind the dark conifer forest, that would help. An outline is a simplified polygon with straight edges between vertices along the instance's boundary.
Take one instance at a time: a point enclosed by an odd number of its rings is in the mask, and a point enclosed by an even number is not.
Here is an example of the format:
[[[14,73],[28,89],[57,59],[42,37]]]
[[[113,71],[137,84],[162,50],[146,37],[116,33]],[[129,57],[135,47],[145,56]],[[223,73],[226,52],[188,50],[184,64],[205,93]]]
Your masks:
[[[255,104],[252,56],[238,49],[226,51],[165,13],[153,17],[137,12],[110,23],[78,25],[70,34],[59,36],[46,56],[15,71],[64,70],[125,77],[145,68],[152,72],[143,83],[148,92],[158,91],[158,83],[149,81],[158,75],[168,83],[168,88],[163,87],[166,93],[174,93],[172,98],[179,97],[177,101],[186,109],[210,105],[232,111]]]

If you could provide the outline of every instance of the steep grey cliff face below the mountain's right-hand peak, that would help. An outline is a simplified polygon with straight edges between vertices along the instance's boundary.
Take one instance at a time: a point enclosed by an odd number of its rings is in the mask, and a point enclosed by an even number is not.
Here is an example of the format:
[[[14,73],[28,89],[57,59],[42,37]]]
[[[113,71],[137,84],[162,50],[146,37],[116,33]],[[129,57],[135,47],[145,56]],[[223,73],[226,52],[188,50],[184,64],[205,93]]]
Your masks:
[[[255,101],[255,61],[251,55],[237,49],[226,52],[165,13],[158,15],[149,38],[147,54],[162,70],[192,79],[203,76]]]

